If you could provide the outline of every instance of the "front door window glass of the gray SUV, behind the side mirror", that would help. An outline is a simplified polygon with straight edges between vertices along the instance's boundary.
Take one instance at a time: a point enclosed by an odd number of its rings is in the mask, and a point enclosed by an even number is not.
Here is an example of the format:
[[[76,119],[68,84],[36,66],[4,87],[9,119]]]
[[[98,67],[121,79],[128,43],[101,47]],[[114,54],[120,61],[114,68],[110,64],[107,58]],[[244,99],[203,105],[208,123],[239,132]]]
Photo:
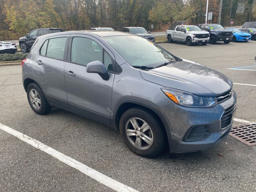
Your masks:
[[[87,66],[93,61],[102,61],[103,48],[94,40],[84,37],[74,37],[71,46],[71,62]]]

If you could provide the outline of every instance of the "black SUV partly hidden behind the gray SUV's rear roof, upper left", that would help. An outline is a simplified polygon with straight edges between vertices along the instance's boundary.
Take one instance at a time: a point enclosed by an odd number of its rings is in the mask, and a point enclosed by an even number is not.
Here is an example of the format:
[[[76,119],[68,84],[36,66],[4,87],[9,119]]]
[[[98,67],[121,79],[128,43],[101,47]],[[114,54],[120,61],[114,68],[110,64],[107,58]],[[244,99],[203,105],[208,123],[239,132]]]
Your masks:
[[[50,33],[57,33],[57,32],[63,32],[63,29],[59,28],[42,28],[42,29],[35,29],[32,30],[29,34],[26,34],[26,36],[21,37],[19,39],[20,44],[20,50],[22,53],[28,53],[28,51],[31,49],[32,45],[34,44],[36,38],[38,38],[41,35],[50,34]]]

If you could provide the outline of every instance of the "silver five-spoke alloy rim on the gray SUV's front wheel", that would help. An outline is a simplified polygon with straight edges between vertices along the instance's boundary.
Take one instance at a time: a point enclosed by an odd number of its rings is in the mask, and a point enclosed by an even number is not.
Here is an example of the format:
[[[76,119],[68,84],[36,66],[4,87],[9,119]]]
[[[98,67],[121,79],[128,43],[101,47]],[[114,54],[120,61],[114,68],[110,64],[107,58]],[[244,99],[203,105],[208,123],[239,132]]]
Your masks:
[[[141,118],[130,118],[126,122],[125,133],[132,146],[140,150],[149,149],[154,142],[154,135],[150,126]]]

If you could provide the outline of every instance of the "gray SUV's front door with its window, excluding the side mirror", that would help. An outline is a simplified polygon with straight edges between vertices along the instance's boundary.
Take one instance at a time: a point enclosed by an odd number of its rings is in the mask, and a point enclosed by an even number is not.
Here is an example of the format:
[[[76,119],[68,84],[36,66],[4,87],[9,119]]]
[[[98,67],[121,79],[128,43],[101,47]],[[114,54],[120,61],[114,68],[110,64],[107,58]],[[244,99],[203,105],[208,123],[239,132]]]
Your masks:
[[[64,69],[68,106],[70,110],[104,123],[110,123],[114,55],[96,38],[73,35]],[[99,74],[87,73],[86,65],[100,61],[109,73],[109,80]]]

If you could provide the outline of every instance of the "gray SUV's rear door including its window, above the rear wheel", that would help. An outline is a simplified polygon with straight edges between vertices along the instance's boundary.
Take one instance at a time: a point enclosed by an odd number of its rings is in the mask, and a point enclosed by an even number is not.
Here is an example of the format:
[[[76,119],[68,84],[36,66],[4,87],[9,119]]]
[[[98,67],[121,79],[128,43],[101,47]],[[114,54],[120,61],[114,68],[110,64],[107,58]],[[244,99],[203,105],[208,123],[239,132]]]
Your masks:
[[[35,61],[37,67],[33,68],[34,76],[44,90],[48,102],[65,109],[68,109],[68,104],[64,68],[69,36],[46,38]]]

